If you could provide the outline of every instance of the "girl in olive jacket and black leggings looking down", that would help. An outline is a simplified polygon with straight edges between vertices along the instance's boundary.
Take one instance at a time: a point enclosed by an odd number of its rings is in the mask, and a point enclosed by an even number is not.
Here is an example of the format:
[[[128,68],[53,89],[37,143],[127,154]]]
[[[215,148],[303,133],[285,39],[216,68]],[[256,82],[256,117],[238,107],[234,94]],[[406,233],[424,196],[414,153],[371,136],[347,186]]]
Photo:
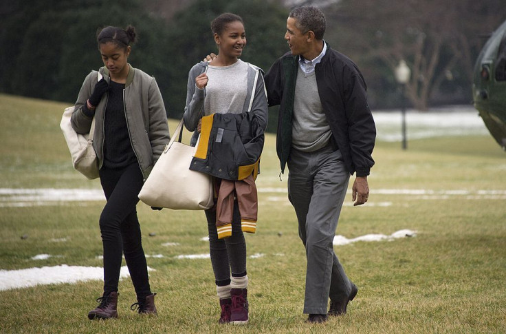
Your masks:
[[[107,27],[97,37],[104,62],[86,77],[72,114],[72,127],[89,133],[95,117],[94,149],[107,203],[99,225],[104,256],[104,291],[90,320],[118,317],[122,255],[129,268],[139,313],[157,313],[135,206],[137,195],[170,140],[162,95],[155,79],[127,62],[135,28]]]

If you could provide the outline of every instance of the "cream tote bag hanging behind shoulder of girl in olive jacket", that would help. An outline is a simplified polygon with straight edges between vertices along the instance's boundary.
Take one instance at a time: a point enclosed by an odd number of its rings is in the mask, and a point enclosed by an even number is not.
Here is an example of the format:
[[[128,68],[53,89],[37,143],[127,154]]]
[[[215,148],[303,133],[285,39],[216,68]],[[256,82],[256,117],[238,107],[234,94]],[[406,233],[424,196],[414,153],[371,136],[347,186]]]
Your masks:
[[[102,79],[102,74],[97,72],[97,79]],[[72,165],[74,169],[81,174],[93,180],[98,178],[98,158],[93,148],[93,134],[95,132],[95,117],[91,121],[91,128],[89,134],[78,134],[70,124],[70,118],[74,112],[74,105],[65,108],[60,122],[60,128],[69,147],[70,155],[72,156]]]

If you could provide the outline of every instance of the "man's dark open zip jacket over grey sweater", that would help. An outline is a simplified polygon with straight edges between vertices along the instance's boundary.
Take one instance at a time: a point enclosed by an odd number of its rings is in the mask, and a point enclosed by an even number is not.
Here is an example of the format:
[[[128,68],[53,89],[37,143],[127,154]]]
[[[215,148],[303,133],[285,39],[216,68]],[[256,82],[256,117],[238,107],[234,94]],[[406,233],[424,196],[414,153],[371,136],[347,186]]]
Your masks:
[[[269,105],[280,105],[276,151],[285,171],[292,149],[292,115],[299,56],[288,52],[265,74]],[[351,59],[327,44],[316,64],[318,94],[332,131],[331,143],[340,149],[350,174],[367,176],[374,165],[371,156],[376,138],[373,114],[366,97],[366,83]]]

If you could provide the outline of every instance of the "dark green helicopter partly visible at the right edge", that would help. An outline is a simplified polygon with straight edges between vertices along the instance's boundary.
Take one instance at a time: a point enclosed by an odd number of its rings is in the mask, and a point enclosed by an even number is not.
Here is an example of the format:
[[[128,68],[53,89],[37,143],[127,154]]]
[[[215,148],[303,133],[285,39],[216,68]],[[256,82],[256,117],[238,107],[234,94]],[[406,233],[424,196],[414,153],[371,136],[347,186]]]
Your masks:
[[[492,137],[506,150],[506,21],[478,55],[472,87],[474,107]]]

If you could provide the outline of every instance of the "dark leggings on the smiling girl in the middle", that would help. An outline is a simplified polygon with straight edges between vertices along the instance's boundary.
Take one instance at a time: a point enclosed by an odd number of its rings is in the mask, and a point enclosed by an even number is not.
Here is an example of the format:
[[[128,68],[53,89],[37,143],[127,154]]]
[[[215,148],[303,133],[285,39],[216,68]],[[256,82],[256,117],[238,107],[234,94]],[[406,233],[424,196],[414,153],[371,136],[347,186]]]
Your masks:
[[[234,214],[232,217],[232,236],[218,239],[216,229],[216,211],[206,210],[209,231],[209,251],[211,255],[212,271],[218,286],[230,284],[230,271],[232,276],[246,275],[246,241],[241,230],[241,214],[239,205],[234,201]]]

